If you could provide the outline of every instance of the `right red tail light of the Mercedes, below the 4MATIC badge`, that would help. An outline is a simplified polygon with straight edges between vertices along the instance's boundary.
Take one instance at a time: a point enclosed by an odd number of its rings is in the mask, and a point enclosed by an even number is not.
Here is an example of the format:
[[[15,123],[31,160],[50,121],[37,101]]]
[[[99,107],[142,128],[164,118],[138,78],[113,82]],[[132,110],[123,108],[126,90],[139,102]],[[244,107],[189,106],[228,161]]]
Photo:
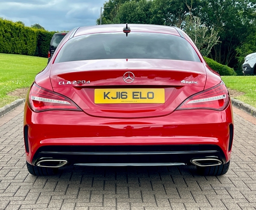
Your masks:
[[[224,110],[229,103],[227,88],[223,82],[186,99],[177,110],[184,109],[212,109]]]

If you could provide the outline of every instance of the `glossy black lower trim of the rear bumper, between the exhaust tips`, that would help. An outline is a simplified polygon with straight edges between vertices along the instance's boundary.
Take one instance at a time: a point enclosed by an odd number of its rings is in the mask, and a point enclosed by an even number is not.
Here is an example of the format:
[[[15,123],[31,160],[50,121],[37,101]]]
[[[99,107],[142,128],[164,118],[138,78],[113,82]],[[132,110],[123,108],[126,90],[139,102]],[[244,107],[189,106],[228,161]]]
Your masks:
[[[184,163],[192,165],[194,158],[226,158],[217,145],[122,145],[122,146],[43,146],[33,157],[32,165],[41,158],[64,159],[67,165],[116,163]]]

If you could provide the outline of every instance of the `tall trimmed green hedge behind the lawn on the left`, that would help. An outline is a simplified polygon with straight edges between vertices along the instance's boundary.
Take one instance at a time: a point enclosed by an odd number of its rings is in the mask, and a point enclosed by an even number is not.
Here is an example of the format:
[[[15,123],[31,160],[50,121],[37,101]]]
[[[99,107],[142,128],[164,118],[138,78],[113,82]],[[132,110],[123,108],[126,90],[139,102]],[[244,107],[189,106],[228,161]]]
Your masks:
[[[0,53],[47,57],[54,33],[0,17]]]

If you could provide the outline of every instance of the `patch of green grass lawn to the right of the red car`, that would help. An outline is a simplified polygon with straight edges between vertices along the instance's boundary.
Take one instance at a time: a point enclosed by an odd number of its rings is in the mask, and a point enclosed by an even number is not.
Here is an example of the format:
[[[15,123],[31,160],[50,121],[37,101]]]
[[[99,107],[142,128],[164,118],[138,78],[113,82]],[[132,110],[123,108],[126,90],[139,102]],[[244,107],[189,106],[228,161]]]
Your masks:
[[[256,76],[222,76],[228,88],[243,92],[244,95],[235,99],[256,107]]]

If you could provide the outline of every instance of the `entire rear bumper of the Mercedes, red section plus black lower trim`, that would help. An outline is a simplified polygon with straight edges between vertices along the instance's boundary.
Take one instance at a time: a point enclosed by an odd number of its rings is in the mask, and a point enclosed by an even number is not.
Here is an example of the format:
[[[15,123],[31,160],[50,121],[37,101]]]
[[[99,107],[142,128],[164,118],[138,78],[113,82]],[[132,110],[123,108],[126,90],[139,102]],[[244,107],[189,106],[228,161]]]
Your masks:
[[[189,165],[204,157],[225,163],[230,160],[233,116],[231,105],[224,111],[107,119],[79,111],[35,113],[26,104],[24,131],[26,161],[32,165],[41,158],[64,159],[70,165]]]

